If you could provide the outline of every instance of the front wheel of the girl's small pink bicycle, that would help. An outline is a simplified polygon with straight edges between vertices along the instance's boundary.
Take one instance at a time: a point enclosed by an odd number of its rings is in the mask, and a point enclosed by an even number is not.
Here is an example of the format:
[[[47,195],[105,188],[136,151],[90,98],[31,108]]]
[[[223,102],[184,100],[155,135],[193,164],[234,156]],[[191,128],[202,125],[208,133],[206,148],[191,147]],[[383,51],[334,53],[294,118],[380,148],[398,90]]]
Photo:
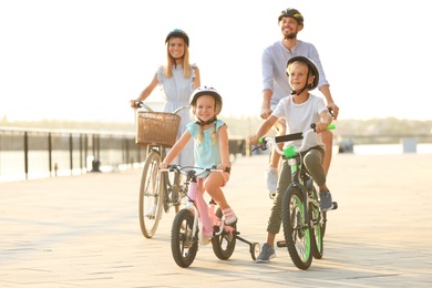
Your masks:
[[[171,251],[175,263],[183,268],[191,266],[198,250],[198,237],[193,235],[194,215],[189,209],[179,210],[171,229]]]

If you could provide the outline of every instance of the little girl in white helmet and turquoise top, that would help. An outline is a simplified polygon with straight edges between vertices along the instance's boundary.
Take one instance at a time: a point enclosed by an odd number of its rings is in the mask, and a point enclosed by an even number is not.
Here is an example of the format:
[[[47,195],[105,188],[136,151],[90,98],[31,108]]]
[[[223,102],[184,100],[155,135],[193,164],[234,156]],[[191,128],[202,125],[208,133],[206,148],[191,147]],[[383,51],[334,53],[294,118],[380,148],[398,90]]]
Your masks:
[[[216,166],[217,169],[224,171],[209,173],[200,181],[204,181],[204,191],[223,210],[225,224],[232,225],[237,222],[237,216],[222,191],[229,179],[230,172],[227,125],[217,119],[222,104],[222,96],[213,88],[203,86],[193,92],[191,106],[197,121],[186,125],[186,131],[171,148],[160,168],[167,168],[189,140],[194,138],[195,165],[203,168]]]

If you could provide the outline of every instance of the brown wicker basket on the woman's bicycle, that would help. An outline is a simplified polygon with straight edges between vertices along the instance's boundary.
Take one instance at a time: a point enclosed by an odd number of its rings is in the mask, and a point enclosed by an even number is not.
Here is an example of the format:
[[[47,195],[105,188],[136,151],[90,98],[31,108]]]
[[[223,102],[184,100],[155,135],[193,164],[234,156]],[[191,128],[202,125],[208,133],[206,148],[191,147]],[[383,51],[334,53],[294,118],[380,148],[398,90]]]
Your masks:
[[[140,111],[136,113],[135,143],[172,147],[177,140],[179,122],[181,116],[174,113]]]

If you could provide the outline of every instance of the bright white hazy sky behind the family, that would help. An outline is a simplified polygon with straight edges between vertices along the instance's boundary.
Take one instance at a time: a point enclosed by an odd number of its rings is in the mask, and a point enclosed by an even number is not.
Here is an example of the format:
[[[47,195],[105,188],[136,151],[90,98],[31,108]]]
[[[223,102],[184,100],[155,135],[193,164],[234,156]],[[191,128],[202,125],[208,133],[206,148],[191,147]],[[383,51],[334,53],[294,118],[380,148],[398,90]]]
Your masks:
[[[288,7],[304,14],[298,39],[317,48],[339,119],[431,119],[424,0],[0,0],[0,117],[134,122],[128,100],[165,63],[175,28],[222,114],[258,116],[261,53]]]

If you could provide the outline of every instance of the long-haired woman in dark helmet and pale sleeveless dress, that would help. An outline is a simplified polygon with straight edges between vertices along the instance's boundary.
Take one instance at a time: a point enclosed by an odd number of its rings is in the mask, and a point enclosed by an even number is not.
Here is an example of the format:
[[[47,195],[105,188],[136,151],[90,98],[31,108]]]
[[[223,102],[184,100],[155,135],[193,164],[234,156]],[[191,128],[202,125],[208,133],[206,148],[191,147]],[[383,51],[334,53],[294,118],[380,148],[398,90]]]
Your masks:
[[[150,96],[156,85],[160,85],[162,97],[165,102],[164,112],[174,112],[181,106],[189,104],[192,92],[200,85],[199,70],[196,64],[189,63],[189,38],[185,31],[175,29],[166,39],[166,65],[161,65],[150,84],[141,92],[136,100],[131,100],[131,106],[136,109],[136,102],[142,102]],[[182,110],[182,117],[177,138],[186,130],[191,122],[188,110]],[[193,165],[193,143],[178,155],[176,163],[179,165]]]

